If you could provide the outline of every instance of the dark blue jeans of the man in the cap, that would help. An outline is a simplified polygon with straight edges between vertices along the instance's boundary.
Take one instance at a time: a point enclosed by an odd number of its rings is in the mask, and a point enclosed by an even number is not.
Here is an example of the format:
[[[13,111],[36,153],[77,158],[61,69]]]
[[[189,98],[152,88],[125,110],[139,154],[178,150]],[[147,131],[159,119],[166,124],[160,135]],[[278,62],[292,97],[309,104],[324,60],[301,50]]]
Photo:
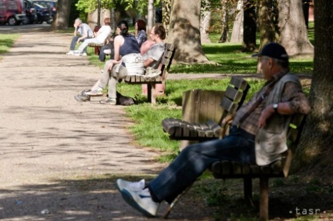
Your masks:
[[[246,136],[247,135],[247,136]],[[149,183],[153,199],[171,203],[178,194],[189,187],[212,163],[233,160],[255,164],[254,135],[236,128],[223,139],[186,147],[167,168]]]

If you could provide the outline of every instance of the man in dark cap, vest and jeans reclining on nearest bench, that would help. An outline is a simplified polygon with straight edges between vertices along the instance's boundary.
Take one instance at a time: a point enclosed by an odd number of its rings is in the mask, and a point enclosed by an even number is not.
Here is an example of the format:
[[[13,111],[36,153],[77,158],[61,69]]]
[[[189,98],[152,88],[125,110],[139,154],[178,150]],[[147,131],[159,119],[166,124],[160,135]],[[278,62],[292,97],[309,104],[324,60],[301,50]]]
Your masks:
[[[281,153],[287,150],[284,135],[290,118],[295,113],[308,114],[310,106],[299,78],[289,73],[288,55],[281,45],[269,43],[254,56],[259,56],[267,82],[232,117],[230,134],[186,147],[149,184],[143,179],[140,182],[117,179],[116,186],[127,203],[154,217],[160,202],[171,204],[218,160],[263,166],[281,158]],[[225,118],[223,123],[226,121]]]

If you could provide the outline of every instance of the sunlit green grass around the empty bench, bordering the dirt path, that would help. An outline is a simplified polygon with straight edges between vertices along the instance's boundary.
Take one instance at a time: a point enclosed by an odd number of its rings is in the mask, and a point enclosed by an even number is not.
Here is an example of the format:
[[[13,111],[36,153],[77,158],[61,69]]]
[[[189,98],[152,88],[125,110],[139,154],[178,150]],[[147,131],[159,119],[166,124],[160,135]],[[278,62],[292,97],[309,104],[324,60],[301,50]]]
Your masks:
[[[158,148],[165,152],[160,157],[162,162],[170,162],[179,151],[179,142],[170,140],[164,133],[161,122],[164,118],[181,118],[182,92],[190,89],[225,90],[230,78],[226,79],[197,79],[197,80],[170,80],[166,81],[166,95],[157,97],[157,105],[152,107],[147,102],[147,96],[141,95],[141,85],[118,84],[118,91],[126,96],[134,97],[138,105],[125,108],[127,115],[135,124],[130,127],[135,136],[135,142],[141,146]],[[250,97],[262,87],[264,81],[250,79]]]

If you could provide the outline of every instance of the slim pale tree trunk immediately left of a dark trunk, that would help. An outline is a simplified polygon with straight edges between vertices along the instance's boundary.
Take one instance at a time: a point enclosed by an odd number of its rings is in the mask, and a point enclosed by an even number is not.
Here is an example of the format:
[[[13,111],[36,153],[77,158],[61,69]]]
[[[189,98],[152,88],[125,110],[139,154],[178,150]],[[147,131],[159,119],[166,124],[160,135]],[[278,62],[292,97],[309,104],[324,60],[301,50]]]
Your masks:
[[[239,0],[237,4],[236,17],[233,26],[233,31],[231,33],[231,43],[242,43],[243,42],[243,24],[244,24],[244,9],[243,0]]]

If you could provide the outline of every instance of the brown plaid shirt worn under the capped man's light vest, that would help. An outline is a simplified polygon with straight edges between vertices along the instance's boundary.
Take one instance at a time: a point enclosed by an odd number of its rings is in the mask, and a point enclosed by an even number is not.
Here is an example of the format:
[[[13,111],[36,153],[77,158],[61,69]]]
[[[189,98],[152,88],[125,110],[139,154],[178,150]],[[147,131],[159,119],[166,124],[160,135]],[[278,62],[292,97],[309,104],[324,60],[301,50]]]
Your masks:
[[[261,95],[263,95],[267,89],[267,85],[274,81],[276,78],[279,78],[281,75],[284,75],[284,72],[276,74],[270,79],[263,88],[261,88],[254,96],[251,98],[249,102],[243,105],[235,114],[232,125],[239,125],[239,120],[242,116],[253,106],[253,104],[259,99]],[[259,130],[259,117],[261,112],[266,108],[266,103],[269,95],[266,96],[263,101],[256,107],[256,109],[250,113],[245,120],[239,125],[239,127],[248,133],[256,135]],[[302,88],[293,83],[287,82],[284,85],[281,102],[288,102],[290,108],[295,113],[303,113],[307,114],[309,112],[309,103],[305,94],[302,92]]]

